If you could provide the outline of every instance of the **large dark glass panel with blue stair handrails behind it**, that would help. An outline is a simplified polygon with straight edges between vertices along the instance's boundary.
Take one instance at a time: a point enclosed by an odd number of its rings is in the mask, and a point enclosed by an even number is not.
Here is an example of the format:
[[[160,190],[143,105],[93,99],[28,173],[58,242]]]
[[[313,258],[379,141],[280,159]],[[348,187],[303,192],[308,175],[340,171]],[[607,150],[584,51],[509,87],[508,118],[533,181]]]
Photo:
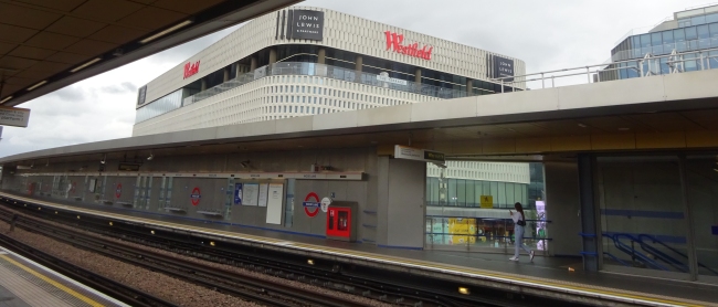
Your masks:
[[[677,158],[599,158],[598,169],[604,269],[687,277]]]

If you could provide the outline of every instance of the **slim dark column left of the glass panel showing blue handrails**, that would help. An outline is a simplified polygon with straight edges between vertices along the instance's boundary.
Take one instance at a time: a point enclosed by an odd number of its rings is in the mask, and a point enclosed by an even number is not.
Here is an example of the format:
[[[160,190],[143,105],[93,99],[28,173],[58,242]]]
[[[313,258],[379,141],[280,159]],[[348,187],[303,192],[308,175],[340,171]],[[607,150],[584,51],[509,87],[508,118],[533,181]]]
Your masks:
[[[579,193],[581,198],[581,236],[583,269],[587,272],[598,272],[599,261],[602,257],[600,229],[596,222],[596,205],[593,195],[593,156],[589,154],[578,155],[579,163]]]

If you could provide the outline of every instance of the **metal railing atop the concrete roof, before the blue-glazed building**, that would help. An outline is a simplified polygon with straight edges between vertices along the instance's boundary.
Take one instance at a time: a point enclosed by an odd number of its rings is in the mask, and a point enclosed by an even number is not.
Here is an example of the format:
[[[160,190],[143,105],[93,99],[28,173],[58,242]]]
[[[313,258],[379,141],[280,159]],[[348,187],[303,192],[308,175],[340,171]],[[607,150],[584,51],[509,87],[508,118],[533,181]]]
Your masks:
[[[556,78],[576,77],[581,75],[587,76],[585,78],[587,83],[592,83],[592,82],[602,82],[602,81],[611,81],[611,80],[646,77],[652,75],[674,74],[674,73],[684,73],[690,71],[704,71],[704,70],[718,68],[718,65],[711,66],[710,64],[710,60],[718,59],[718,54],[709,55],[709,53],[711,52],[718,53],[718,47],[689,51],[689,52],[677,52],[674,50],[671,54],[665,54],[665,55],[652,55],[651,53],[647,53],[642,59],[623,60],[623,61],[615,61],[611,63],[602,63],[595,65],[585,65],[585,66],[563,68],[563,70],[547,71],[547,72],[525,74],[518,76],[498,77],[498,78],[494,78],[493,81],[498,82],[501,85],[501,93],[505,93],[504,92],[505,85],[513,85],[518,82],[520,83],[540,82],[541,88],[546,88],[547,81],[551,82],[550,87],[556,87]],[[666,61],[663,61],[664,59]],[[625,64],[625,66],[623,66],[623,64]],[[626,73],[626,77],[621,77],[620,75],[617,77],[615,76],[610,77],[610,75],[606,77],[608,75],[606,73],[620,72],[620,71],[633,72],[635,76],[633,76],[633,74],[630,75]],[[603,80],[602,80],[602,74],[604,75]],[[595,76],[595,80],[593,78],[593,76]],[[507,81],[509,78],[522,78],[522,80]]]

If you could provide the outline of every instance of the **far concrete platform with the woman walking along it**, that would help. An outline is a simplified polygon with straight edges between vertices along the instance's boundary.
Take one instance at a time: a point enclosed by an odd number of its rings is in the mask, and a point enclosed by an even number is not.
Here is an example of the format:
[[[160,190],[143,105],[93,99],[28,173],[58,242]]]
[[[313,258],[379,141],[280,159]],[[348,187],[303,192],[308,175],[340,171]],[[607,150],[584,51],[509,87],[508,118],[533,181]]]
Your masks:
[[[718,306],[718,285],[614,273],[590,274],[580,269],[582,261],[578,257],[537,256],[531,263],[528,256],[522,256],[519,262],[510,262],[509,255],[505,254],[386,248],[372,244],[339,242],[221,222],[210,223],[125,208],[65,204],[56,200],[28,199],[8,193],[0,193],[0,197],[81,214],[124,220],[157,230],[191,233],[217,241],[243,242],[312,257],[336,258],[422,275],[440,275],[457,283],[543,296],[547,293],[553,297],[581,296],[595,304],[612,301],[645,306]]]

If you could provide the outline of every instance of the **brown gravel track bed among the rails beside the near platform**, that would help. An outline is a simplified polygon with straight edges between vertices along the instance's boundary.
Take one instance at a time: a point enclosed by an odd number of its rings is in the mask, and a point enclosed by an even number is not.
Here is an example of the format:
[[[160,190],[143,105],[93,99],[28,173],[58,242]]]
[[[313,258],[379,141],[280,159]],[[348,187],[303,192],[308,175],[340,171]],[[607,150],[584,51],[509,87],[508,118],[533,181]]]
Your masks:
[[[9,211],[17,212],[12,209],[7,209]],[[51,222],[46,220],[40,220],[40,219],[34,219],[32,216],[24,215],[20,212],[17,212],[18,214],[21,215],[21,219],[32,219],[35,221],[40,221],[43,223],[51,223],[53,225],[68,229],[68,230],[74,230],[74,231],[83,231],[78,229],[74,229],[72,226],[67,226],[61,223],[56,222]],[[4,231],[10,227],[9,224],[4,222],[0,222],[4,224],[4,227],[1,227],[0,230]],[[370,304],[372,306],[377,307],[386,307],[386,306],[394,306],[391,304],[378,301],[374,299],[361,297],[361,296],[356,296],[356,295],[350,295],[341,292],[335,292],[326,288],[321,288],[318,286],[314,285],[307,285],[304,283],[295,282],[295,280],[288,280],[231,265],[225,265],[225,264],[219,264],[219,263],[213,263],[213,262],[208,262],[172,252],[167,252],[160,248],[155,248],[150,246],[145,246],[141,244],[133,243],[133,242],[127,242],[109,236],[104,236],[99,235],[96,233],[92,233],[88,231],[83,231],[86,234],[89,234],[92,236],[96,237],[103,237],[107,240],[115,241],[117,243],[127,245],[127,246],[133,246],[133,247],[139,247],[146,251],[152,251],[160,253],[162,255],[167,255],[168,258],[177,258],[181,261],[189,261],[192,263],[198,263],[198,264],[204,264],[209,265],[212,267],[217,268],[222,268],[231,272],[236,272],[240,274],[246,274],[246,275],[252,275],[255,277],[261,277],[265,280],[271,280],[271,282],[281,282],[285,284],[292,284],[297,287],[302,287],[306,289],[307,293],[321,293],[325,295],[330,295],[334,297],[345,297],[345,298],[350,298],[355,301],[361,301],[366,304]],[[180,306],[202,306],[202,307],[209,307],[209,306],[262,306],[257,305],[251,301],[245,301],[240,298],[224,295],[218,292],[210,290],[208,288],[197,286],[194,284],[190,284],[187,282],[182,282],[180,279],[173,278],[166,276],[160,273],[155,273],[150,272],[148,269],[141,268],[141,267],[136,267],[116,260],[112,260],[102,255],[97,255],[84,250],[80,250],[73,246],[70,246],[64,243],[56,242],[52,239],[44,237],[42,235],[35,234],[35,233],[29,233],[27,231],[20,230],[15,227],[15,231],[13,234],[11,234],[13,239],[18,239],[22,241],[25,244],[29,244],[33,247],[40,248],[41,251],[51,253],[53,255],[60,256],[62,260],[65,260],[67,262],[71,262],[73,264],[80,265],[84,268],[91,269],[95,273],[99,273],[105,277],[112,278],[114,280],[123,282],[126,283],[127,285],[130,285],[133,287],[139,288],[146,293],[152,294],[157,297],[160,297],[162,299],[167,299],[168,301],[172,301],[177,305]]]

